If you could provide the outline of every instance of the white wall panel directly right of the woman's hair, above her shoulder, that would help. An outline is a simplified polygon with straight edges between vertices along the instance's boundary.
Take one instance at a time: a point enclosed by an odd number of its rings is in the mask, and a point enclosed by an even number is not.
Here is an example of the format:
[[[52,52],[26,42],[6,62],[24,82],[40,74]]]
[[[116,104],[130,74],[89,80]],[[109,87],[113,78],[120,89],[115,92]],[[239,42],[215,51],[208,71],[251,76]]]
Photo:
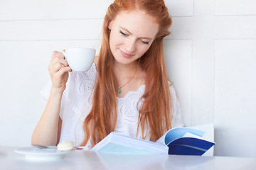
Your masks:
[[[191,40],[165,40],[164,56],[169,79],[181,103],[184,123],[191,125]]]

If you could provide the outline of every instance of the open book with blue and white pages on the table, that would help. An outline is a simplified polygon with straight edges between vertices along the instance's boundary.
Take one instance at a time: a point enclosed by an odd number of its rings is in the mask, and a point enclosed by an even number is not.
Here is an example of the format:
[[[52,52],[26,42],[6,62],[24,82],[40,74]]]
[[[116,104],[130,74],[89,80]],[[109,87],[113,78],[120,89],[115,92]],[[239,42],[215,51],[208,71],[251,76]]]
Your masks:
[[[204,139],[205,132],[198,129],[206,129],[207,131],[212,129],[213,132],[213,124],[190,128],[173,128],[156,142],[111,132],[95,147],[92,147],[91,151],[129,154],[202,155],[213,147],[215,142]]]

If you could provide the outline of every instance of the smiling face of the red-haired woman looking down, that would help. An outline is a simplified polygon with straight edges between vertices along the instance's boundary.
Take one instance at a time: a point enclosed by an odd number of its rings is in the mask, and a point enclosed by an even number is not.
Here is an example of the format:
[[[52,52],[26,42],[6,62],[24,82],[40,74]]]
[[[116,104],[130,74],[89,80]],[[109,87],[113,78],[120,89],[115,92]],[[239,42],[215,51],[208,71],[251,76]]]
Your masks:
[[[114,59],[120,64],[132,64],[149,49],[159,24],[143,11],[121,11],[108,28]]]

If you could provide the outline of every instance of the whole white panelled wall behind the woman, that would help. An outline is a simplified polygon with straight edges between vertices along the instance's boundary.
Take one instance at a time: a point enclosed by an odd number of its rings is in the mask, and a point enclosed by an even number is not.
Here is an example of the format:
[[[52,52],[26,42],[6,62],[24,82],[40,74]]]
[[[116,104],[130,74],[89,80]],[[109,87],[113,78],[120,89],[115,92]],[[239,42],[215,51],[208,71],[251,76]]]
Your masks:
[[[53,50],[100,49],[112,0],[0,1],[0,145],[29,146]],[[166,68],[186,125],[215,125],[215,155],[256,156],[256,1],[166,0]]]

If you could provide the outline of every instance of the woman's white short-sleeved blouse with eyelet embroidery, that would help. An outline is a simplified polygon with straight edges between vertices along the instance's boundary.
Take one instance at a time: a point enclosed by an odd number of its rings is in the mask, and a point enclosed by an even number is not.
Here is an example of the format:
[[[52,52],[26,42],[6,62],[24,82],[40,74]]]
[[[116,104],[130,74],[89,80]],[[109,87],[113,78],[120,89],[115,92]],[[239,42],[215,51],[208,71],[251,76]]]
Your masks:
[[[73,141],[75,146],[79,146],[84,139],[82,123],[90,113],[93,100],[93,86],[95,84],[97,70],[95,64],[87,72],[70,72],[66,89],[60,106],[60,118],[62,119],[62,128],[60,133],[60,142]],[[51,82],[41,91],[43,97],[48,101],[50,96]],[[171,120],[171,126],[184,126],[181,115],[181,108],[176,97],[174,86],[169,86],[171,99],[174,102],[174,115]],[[117,97],[117,124],[115,132],[122,135],[142,138],[142,132],[138,132],[137,126],[139,118],[138,106],[142,105],[139,98],[145,91],[145,85],[139,87],[137,91],[129,91],[123,98]],[[138,105],[137,105],[138,103]],[[150,136],[146,136],[149,140]],[[90,149],[90,141],[85,149]]]

